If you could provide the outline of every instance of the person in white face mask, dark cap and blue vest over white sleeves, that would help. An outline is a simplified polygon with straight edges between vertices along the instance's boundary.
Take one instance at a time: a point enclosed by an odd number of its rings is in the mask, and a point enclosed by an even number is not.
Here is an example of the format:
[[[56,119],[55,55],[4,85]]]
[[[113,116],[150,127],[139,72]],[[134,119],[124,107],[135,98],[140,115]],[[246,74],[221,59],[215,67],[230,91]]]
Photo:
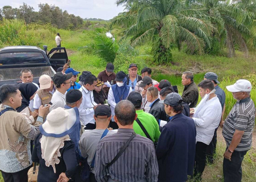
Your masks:
[[[108,94],[108,103],[110,104],[111,112],[112,112],[112,122],[110,122],[110,127],[116,129],[117,124],[114,122],[114,110],[116,104],[121,100],[124,100],[128,97],[128,95],[132,92],[132,88],[128,86],[126,74],[123,71],[119,71],[116,74],[116,84],[113,84],[109,89]]]

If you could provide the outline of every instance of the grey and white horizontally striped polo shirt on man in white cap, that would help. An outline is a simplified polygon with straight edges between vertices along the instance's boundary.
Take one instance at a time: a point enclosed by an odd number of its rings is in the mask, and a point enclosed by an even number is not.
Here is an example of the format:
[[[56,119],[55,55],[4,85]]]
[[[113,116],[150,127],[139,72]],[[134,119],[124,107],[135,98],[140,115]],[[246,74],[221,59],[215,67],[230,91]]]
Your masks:
[[[255,124],[255,105],[250,97],[237,101],[224,122],[222,135],[230,145],[235,130],[244,131],[235,151],[247,151],[252,146],[252,132]]]

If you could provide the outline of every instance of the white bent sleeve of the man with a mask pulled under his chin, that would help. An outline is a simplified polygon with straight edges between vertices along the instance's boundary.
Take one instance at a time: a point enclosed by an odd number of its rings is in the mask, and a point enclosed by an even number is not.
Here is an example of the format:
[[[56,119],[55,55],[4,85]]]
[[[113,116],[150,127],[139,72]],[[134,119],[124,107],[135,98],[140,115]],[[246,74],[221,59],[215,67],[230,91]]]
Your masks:
[[[202,128],[206,128],[210,126],[212,122],[217,118],[216,109],[210,107],[208,108],[200,118],[192,118],[195,122],[196,126],[200,126]]]

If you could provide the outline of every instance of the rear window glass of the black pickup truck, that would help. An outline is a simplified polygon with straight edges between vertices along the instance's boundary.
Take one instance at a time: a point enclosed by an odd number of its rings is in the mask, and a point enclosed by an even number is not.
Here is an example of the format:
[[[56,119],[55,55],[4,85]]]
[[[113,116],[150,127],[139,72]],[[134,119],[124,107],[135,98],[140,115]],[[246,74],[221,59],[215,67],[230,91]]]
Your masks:
[[[47,64],[41,52],[5,52],[0,54],[0,66],[14,64]]]

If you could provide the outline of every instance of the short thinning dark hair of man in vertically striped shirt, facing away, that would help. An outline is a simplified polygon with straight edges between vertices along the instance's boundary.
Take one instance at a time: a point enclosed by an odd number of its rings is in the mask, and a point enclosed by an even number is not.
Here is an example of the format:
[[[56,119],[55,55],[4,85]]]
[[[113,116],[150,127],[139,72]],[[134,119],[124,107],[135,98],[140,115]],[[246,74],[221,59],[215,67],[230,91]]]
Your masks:
[[[136,116],[135,106],[129,100],[121,100],[116,104],[115,115],[122,126],[131,125]]]

